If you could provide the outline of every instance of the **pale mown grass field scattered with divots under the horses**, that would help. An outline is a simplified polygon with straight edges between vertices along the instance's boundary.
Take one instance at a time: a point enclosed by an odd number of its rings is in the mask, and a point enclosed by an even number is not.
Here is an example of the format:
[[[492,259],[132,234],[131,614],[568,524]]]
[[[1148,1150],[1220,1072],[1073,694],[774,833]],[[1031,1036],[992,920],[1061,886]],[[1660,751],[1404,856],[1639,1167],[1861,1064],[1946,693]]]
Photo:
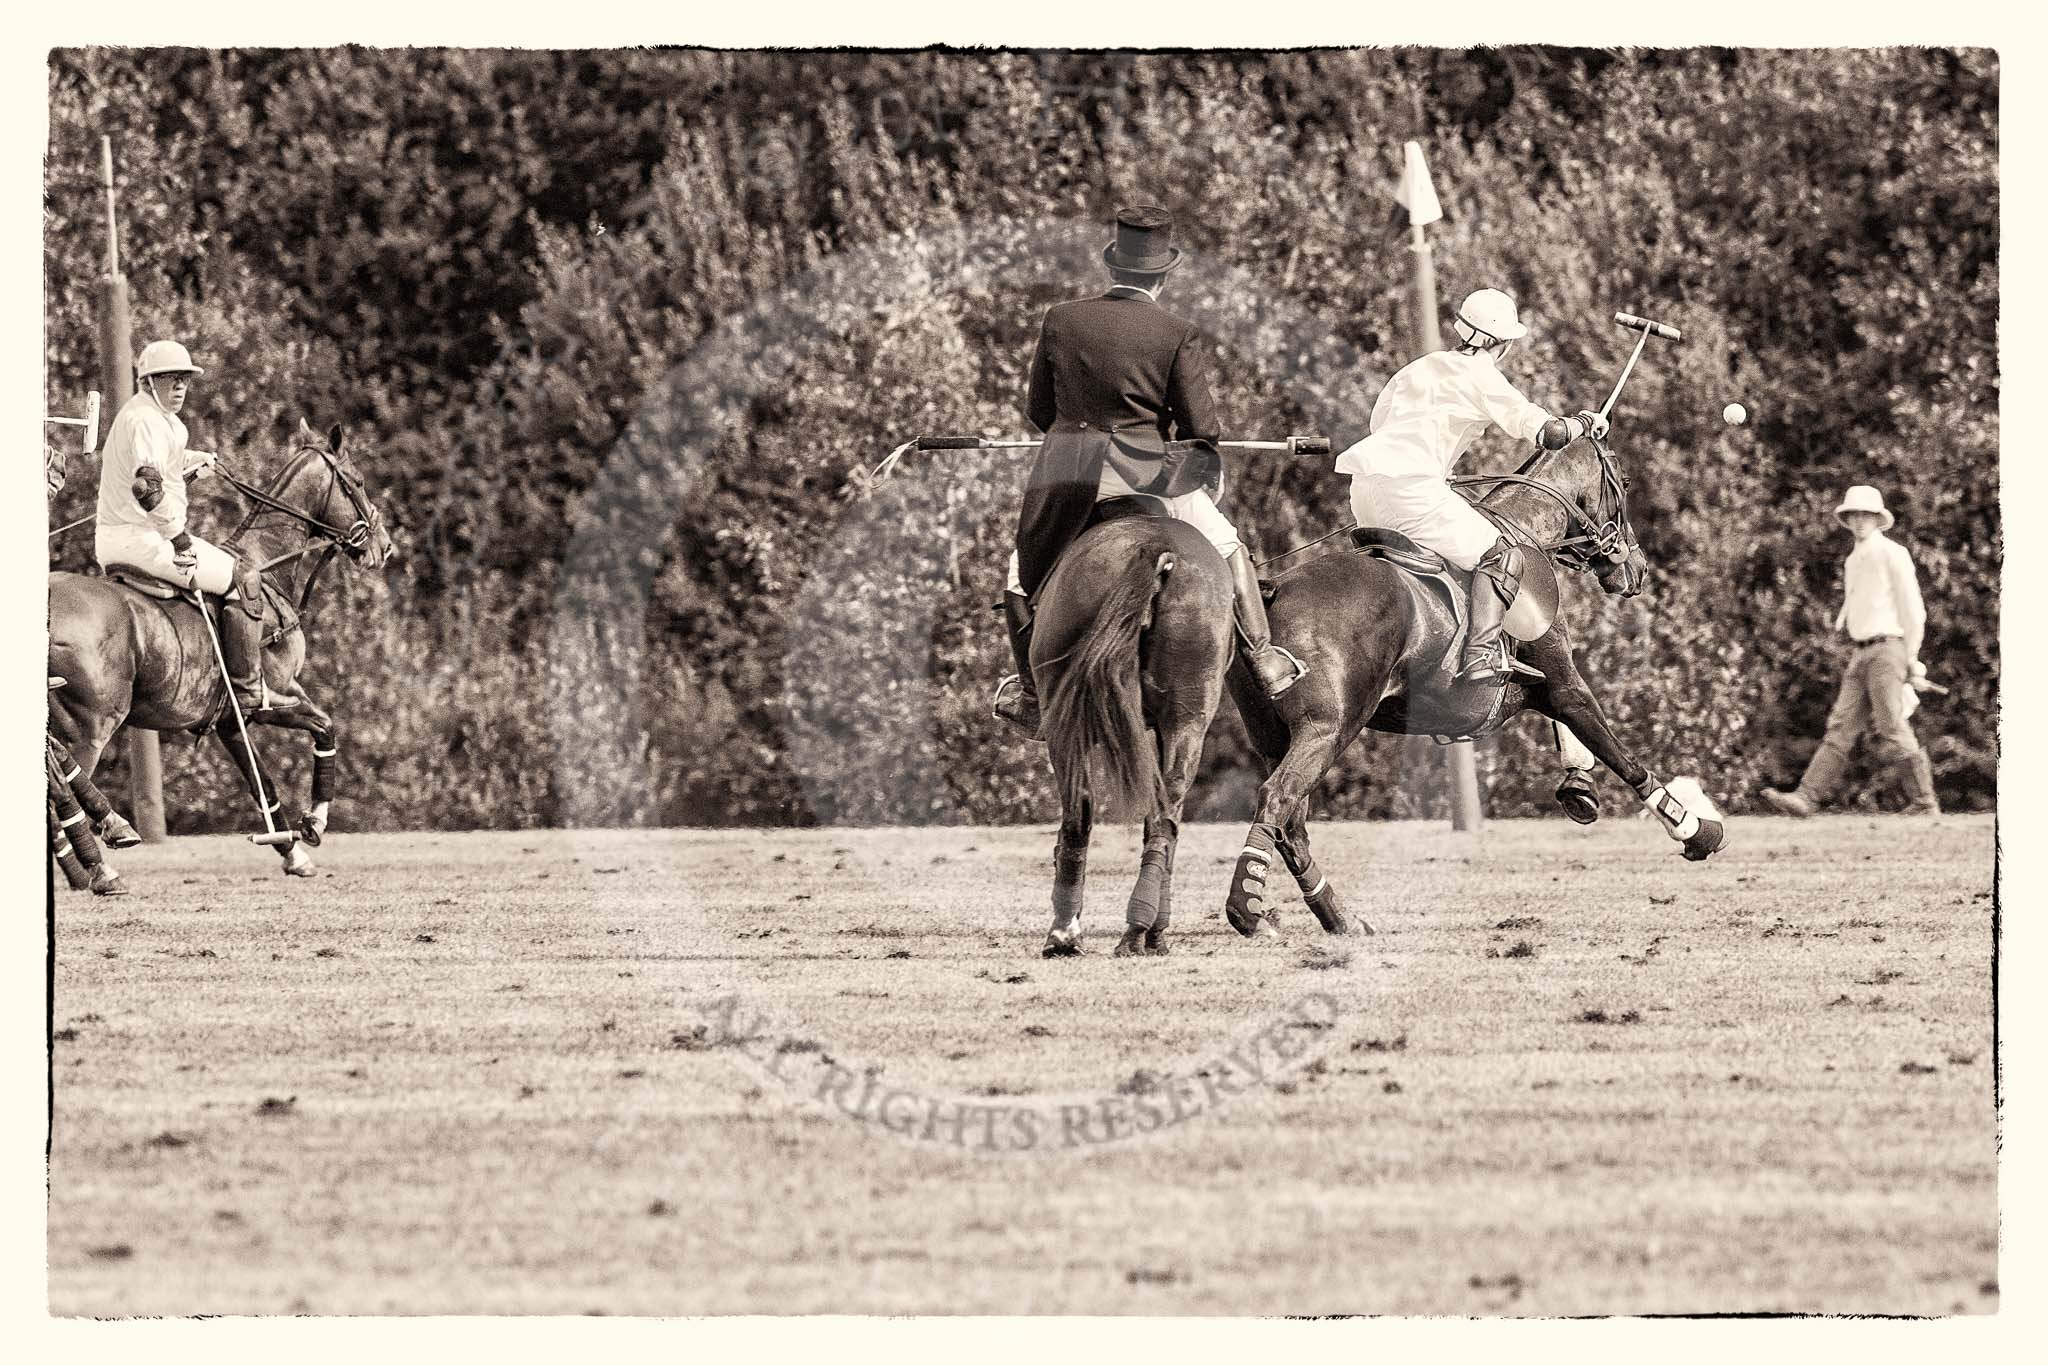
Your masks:
[[[1044,827],[119,853],[51,1310],[1997,1308],[1989,817],[1329,827],[1378,935],[1278,943],[1241,833],[1145,960],[1100,835],[1065,962]]]

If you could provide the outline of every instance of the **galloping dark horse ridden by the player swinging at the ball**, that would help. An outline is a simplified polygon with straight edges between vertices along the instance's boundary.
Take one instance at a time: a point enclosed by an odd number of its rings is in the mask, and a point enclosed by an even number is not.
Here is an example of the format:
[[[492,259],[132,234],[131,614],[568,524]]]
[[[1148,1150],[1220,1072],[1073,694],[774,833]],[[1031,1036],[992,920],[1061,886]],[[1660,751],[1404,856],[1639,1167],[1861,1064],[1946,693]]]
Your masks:
[[[1491,485],[1477,503],[1481,512],[1534,548],[1522,602],[1507,622],[1509,634],[1524,641],[1518,657],[1534,665],[1542,681],[1507,688],[1454,681],[1462,604],[1448,602],[1389,559],[1325,555],[1278,575],[1268,608],[1274,639],[1300,655],[1309,675],[1278,702],[1241,669],[1233,667],[1229,679],[1266,767],[1225,902],[1231,925],[1247,937],[1274,929],[1266,894],[1274,851],[1323,929],[1352,929],[1309,849],[1309,792],[1368,726],[1395,735],[1470,737],[1536,710],[1571,726],[1593,757],[1634,788],[1688,860],[1708,857],[1722,843],[1712,810],[1688,810],[1622,749],[1571,655],[1565,620],[1544,620],[1556,608],[1552,565],[1589,571],[1604,591],[1622,598],[1642,589],[1647,565],[1628,524],[1628,483],[1614,452],[1604,442],[1581,440],[1554,454],[1534,454],[1513,475],[1454,483]],[[1452,573],[1460,581],[1466,577]]]

